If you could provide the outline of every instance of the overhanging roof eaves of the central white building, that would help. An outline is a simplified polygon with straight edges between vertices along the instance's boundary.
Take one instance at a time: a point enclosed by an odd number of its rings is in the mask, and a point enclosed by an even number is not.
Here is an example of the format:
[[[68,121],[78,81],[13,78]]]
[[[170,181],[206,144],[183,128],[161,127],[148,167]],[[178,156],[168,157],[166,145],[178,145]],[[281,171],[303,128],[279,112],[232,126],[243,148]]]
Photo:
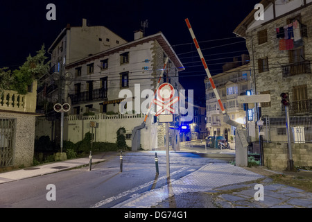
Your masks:
[[[119,51],[125,51],[125,49],[130,49],[133,46],[137,46],[139,44],[143,44],[145,42],[150,42],[150,41],[154,41],[154,40],[156,40],[159,43],[159,45],[162,46],[162,49],[164,49],[164,51],[166,52],[168,57],[171,59],[171,61],[175,65],[175,67],[177,67],[177,69],[179,71],[183,71],[185,68],[183,67],[182,62],[180,61],[180,59],[175,54],[175,51],[173,51],[171,45],[168,43],[168,41],[166,40],[166,37],[164,37],[162,32],[159,32],[155,35],[149,35],[147,37],[142,37],[138,40],[122,44],[121,46],[116,46],[112,49],[107,49],[107,50],[102,51],[100,53],[96,53],[95,55],[92,55],[92,56],[89,56],[87,58],[83,58],[81,60],[78,60],[76,62],[71,62],[68,65],[66,65],[65,68],[71,69],[72,67],[83,65],[87,62],[91,62],[92,60],[96,60],[98,58],[103,58],[104,56],[108,56],[108,55],[111,55],[113,53],[117,53]]]

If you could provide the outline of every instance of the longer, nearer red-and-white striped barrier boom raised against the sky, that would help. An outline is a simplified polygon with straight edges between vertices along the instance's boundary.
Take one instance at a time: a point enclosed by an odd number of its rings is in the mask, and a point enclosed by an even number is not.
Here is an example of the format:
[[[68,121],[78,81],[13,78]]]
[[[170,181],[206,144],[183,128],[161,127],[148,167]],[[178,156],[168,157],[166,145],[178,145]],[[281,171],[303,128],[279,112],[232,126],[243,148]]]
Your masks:
[[[218,94],[218,90],[216,89],[216,85],[214,85],[214,80],[212,80],[212,77],[211,77],[210,71],[209,71],[209,69],[207,67],[205,58],[204,58],[204,56],[202,56],[202,51],[200,50],[200,46],[199,46],[199,44],[198,44],[198,42],[196,40],[196,37],[194,35],[193,29],[191,27],[191,24],[189,23],[189,19],[185,19],[185,22],[187,22],[187,27],[189,28],[189,32],[191,33],[191,36],[193,38],[194,44],[195,44],[196,49],[198,51],[198,54],[200,56],[200,60],[202,60],[202,65],[204,65],[205,71],[206,71],[207,76],[209,78],[209,82],[210,82],[210,84],[212,86],[212,89],[214,89],[214,94],[216,95],[216,99],[218,100],[218,103],[220,105],[220,109],[221,109],[222,113],[225,114],[226,112],[224,110],[223,103],[221,102],[220,96]]]

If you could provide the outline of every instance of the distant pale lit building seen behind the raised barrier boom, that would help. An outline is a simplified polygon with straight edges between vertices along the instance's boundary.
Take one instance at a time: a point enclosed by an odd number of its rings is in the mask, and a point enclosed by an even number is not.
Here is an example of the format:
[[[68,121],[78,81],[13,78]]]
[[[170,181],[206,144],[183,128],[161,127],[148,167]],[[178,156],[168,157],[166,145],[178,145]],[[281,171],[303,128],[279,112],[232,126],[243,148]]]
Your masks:
[[[245,95],[246,91],[250,90],[250,64],[239,67],[236,65],[236,68],[229,68],[229,70],[225,70],[223,73],[214,75],[213,78],[223,107],[229,114],[229,117],[239,123],[246,123],[246,112],[243,104],[238,103],[237,96]],[[208,133],[216,136],[223,135],[225,139],[230,139],[229,135],[234,135],[234,128],[223,122],[223,114],[219,109],[216,95],[208,78],[205,78],[205,88]]]

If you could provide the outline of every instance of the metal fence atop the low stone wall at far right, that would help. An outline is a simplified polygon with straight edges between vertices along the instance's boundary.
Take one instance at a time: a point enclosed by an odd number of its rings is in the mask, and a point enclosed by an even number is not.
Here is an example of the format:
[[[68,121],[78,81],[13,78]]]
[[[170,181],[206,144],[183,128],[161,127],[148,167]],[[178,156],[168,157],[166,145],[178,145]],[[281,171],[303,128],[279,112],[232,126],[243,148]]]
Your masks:
[[[264,117],[262,119],[263,140],[267,142],[287,142],[286,117]],[[291,142],[312,142],[312,117],[290,117]]]

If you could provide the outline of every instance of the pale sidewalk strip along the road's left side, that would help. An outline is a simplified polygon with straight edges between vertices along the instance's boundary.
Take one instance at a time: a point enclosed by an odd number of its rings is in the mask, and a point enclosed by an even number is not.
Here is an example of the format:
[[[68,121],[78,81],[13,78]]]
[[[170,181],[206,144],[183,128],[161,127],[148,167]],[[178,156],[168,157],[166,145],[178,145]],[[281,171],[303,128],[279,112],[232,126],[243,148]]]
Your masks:
[[[92,164],[103,161],[105,161],[105,159],[92,158]],[[4,182],[11,182],[14,180],[22,180],[25,178],[42,176],[49,173],[56,173],[59,171],[69,170],[87,165],[89,165],[89,157],[65,160],[60,162],[52,162],[34,167],[27,167],[25,169],[8,171],[5,173],[0,173],[0,184]]]

